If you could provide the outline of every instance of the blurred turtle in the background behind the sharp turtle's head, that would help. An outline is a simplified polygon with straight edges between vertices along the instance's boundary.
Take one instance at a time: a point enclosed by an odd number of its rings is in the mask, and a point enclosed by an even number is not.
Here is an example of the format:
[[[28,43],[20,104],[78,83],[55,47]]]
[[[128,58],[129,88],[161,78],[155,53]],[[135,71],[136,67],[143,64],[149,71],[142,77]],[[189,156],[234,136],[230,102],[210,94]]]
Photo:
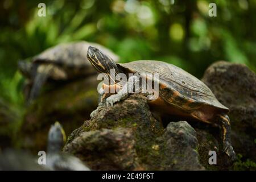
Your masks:
[[[32,57],[31,63],[26,60],[18,61],[19,71],[28,78],[25,95],[28,103],[39,95],[44,82],[49,80],[72,80],[85,77],[97,72],[90,66],[86,57],[89,45],[101,48],[118,61],[118,56],[109,49],[97,43],[85,41],[61,43]]]

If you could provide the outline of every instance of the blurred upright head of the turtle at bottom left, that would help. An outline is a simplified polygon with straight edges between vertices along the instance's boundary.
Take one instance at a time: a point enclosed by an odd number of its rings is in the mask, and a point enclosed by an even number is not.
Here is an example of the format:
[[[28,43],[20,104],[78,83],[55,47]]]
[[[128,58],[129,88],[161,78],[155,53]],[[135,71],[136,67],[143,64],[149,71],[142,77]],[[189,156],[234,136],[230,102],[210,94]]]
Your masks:
[[[60,123],[56,121],[54,125],[52,125],[49,129],[47,152],[60,152],[65,142],[65,131],[63,130],[63,127],[60,125]]]

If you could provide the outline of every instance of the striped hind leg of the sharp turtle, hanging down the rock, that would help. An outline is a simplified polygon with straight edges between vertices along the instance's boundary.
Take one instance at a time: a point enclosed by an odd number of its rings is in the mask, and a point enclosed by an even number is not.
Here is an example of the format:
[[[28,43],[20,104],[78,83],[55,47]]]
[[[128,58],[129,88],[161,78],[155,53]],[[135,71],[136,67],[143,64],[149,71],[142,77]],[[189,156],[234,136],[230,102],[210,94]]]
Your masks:
[[[231,128],[230,128],[230,119],[228,115],[220,115],[220,124],[222,129],[222,139],[223,139],[223,149],[226,155],[229,156],[231,162],[237,159],[236,152],[234,152],[232,144],[231,144]]]

